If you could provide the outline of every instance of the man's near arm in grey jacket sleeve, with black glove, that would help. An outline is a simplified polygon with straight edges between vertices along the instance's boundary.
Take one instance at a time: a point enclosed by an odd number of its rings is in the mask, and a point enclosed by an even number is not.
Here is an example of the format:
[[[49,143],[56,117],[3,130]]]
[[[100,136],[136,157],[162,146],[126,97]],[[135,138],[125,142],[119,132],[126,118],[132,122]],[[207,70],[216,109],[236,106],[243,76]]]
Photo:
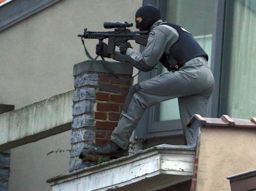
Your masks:
[[[178,32],[173,27],[160,25],[162,20],[158,20],[151,27],[147,46],[142,53],[136,52],[134,49],[129,49],[126,55],[120,52],[115,52],[113,59],[120,62],[132,64],[135,68],[142,71],[152,70],[163,53],[169,53],[171,45],[178,40]]]

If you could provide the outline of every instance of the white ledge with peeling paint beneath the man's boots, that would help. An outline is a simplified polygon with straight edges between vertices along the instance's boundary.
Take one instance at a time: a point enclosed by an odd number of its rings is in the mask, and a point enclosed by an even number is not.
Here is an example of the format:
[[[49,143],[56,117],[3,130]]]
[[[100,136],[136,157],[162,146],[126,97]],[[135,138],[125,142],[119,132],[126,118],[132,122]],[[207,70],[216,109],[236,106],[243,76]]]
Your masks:
[[[47,182],[53,191],[157,190],[191,179],[194,156],[188,146],[163,144]]]

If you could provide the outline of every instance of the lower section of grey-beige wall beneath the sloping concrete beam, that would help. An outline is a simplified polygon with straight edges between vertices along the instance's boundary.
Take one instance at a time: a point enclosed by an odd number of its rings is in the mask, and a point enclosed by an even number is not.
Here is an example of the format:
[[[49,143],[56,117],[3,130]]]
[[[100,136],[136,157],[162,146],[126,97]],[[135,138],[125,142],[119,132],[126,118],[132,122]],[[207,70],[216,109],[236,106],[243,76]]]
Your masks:
[[[65,174],[69,169],[71,131],[11,149],[8,191],[50,191],[50,177]]]

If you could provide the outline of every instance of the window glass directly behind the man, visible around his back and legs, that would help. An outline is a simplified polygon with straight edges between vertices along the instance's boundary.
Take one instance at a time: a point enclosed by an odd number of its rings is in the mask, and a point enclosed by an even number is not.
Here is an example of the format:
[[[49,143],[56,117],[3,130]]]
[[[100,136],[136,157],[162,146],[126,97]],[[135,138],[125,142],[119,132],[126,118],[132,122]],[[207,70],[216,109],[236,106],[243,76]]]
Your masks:
[[[214,7],[216,1],[209,0],[168,0],[164,21],[175,23],[189,31],[211,59]],[[163,67],[162,72],[168,72]],[[159,120],[180,119],[178,99],[160,103]]]

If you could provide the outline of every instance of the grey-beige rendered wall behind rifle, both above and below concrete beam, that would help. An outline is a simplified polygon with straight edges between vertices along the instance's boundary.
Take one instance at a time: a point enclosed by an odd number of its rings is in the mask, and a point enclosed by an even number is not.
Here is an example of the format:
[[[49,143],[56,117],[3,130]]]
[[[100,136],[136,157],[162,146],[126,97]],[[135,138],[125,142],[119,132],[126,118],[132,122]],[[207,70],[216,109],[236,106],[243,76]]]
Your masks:
[[[104,21],[134,23],[141,6],[142,0],[62,0],[1,31],[0,104],[17,109],[73,89],[73,64],[88,59],[77,35],[103,31]],[[86,41],[93,57],[96,44]],[[9,191],[51,190],[46,179],[68,172],[67,152],[46,156],[57,149],[70,149],[69,131],[11,149]]]

